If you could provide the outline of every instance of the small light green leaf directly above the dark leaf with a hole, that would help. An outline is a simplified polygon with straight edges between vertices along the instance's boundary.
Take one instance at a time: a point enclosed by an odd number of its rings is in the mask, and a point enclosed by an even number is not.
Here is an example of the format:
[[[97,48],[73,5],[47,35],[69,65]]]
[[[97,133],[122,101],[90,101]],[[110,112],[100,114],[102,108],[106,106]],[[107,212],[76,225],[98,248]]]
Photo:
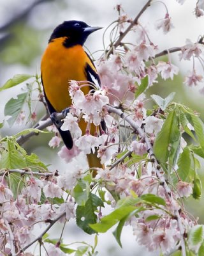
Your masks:
[[[73,190],[73,197],[78,205],[85,205],[89,198],[90,187],[89,182],[85,180],[79,180]]]

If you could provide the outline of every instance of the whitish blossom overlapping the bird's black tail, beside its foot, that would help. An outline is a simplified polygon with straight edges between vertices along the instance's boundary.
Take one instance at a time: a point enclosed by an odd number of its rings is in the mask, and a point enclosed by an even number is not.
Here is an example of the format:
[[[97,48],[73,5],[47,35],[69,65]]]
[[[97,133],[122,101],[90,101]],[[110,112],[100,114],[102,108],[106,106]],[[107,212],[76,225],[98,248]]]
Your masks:
[[[82,135],[82,130],[78,126],[78,118],[68,113],[63,119],[64,123],[61,126],[62,131],[70,131],[73,139],[78,139]]]

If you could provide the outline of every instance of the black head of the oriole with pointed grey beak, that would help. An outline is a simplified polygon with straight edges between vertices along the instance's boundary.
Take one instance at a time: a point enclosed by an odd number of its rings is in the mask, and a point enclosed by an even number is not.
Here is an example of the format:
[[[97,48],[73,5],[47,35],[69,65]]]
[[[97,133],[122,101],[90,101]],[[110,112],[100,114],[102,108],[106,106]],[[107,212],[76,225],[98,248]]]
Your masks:
[[[55,38],[66,37],[69,46],[80,44],[84,45],[87,37],[94,31],[101,29],[101,27],[91,27],[83,21],[69,20],[64,21],[57,26],[50,36],[49,42]]]

